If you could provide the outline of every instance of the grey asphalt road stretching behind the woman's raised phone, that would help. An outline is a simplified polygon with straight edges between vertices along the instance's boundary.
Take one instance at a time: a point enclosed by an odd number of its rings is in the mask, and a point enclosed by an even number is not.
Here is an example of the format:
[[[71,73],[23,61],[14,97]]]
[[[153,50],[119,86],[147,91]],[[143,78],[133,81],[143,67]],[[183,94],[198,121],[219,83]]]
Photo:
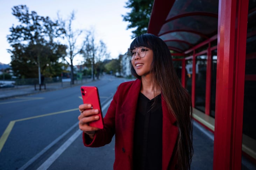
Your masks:
[[[104,115],[116,88],[125,81],[106,76],[86,84],[98,87]],[[77,118],[81,103],[80,86],[1,100],[0,169],[37,169],[43,163],[42,169],[113,169],[114,144],[96,149],[83,146]],[[68,140],[73,142],[62,147]],[[45,166],[60,147],[63,153]]]

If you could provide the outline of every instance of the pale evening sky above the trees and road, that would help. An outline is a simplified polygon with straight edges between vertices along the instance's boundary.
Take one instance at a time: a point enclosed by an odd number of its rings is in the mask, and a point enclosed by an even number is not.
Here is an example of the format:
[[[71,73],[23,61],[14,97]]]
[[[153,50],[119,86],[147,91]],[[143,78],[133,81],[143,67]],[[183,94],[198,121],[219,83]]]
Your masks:
[[[6,36],[10,34],[9,28],[18,25],[19,22],[12,15],[12,7],[26,5],[29,13],[35,11],[39,16],[49,16],[51,20],[57,19],[57,13],[69,19],[72,11],[75,12],[73,28],[94,30],[95,40],[101,39],[107,46],[112,59],[119,54],[125,54],[133,39],[131,29],[127,30],[128,22],[123,21],[122,15],[126,15],[129,9],[125,8],[128,0],[0,0],[0,62],[9,64],[11,61],[7,49],[10,46]],[[74,65],[83,60],[80,56],[74,57]]]

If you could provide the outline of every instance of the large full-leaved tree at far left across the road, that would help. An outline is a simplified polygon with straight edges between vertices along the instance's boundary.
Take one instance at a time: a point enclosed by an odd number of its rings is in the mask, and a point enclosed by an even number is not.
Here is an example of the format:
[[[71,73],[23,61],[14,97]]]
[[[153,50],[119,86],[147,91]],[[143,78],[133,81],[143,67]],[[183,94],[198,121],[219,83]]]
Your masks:
[[[29,13],[26,5],[14,6],[12,14],[19,20],[20,25],[10,28],[11,34],[7,41],[12,49],[11,65],[14,75],[24,78],[35,78],[46,72],[46,66],[60,69],[58,59],[65,55],[65,46],[56,42],[60,34],[59,25],[49,17],[38,16],[35,11]],[[42,69],[43,68],[43,69]],[[49,76],[56,76],[49,72]]]

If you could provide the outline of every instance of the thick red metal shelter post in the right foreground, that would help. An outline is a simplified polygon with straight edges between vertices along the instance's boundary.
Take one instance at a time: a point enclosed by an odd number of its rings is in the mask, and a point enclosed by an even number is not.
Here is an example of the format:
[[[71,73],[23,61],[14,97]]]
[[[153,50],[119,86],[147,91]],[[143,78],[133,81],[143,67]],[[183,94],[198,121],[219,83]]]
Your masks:
[[[241,170],[248,0],[220,0],[213,169]]]

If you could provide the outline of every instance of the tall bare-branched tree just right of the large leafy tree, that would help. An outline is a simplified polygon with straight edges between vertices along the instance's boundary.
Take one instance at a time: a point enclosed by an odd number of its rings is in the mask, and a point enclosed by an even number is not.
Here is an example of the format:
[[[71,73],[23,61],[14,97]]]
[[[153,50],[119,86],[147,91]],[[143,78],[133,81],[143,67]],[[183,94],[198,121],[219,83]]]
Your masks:
[[[74,57],[81,53],[81,50],[84,48],[84,44],[78,45],[77,41],[81,37],[83,30],[73,30],[72,22],[75,20],[74,11],[71,12],[69,20],[63,20],[58,14],[58,20],[60,21],[61,28],[64,33],[64,39],[67,44],[67,56],[63,59],[69,64],[71,68],[71,84],[74,84]],[[67,58],[67,59],[66,59]]]

